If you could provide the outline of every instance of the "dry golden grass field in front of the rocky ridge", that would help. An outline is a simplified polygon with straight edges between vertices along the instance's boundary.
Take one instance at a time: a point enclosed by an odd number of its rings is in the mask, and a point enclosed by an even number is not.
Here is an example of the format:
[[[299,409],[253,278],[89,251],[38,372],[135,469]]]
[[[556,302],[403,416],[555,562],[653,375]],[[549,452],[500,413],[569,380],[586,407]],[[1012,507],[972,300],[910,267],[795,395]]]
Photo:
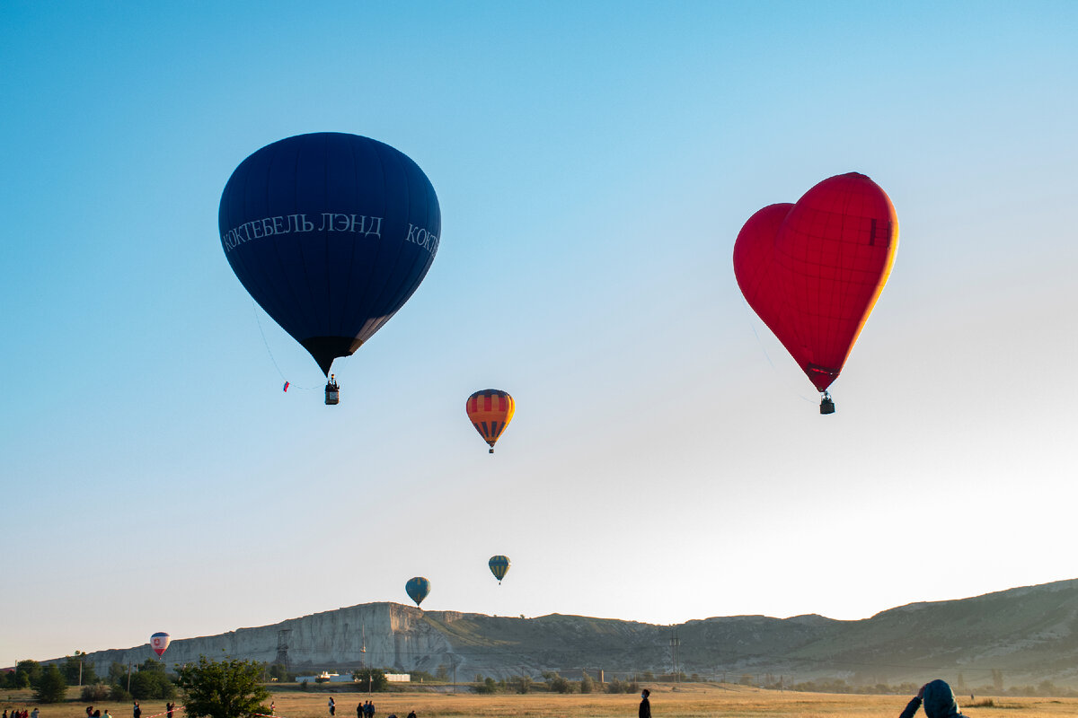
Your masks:
[[[651,713],[655,718],[897,718],[909,696],[847,695],[832,693],[794,693],[723,690],[715,686],[682,686],[651,689]],[[280,718],[329,718],[327,702],[333,695],[336,718],[354,718],[356,705],[367,700],[358,692],[274,692],[276,715]],[[85,718],[85,704],[78,702],[71,689],[68,703],[39,706],[41,718]],[[959,696],[960,698],[960,696]],[[977,705],[989,696],[978,696],[972,706],[963,707],[970,718],[1078,718],[1078,699],[1004,698],[993,699],[994,706]],[[375,718],[396,714],[405,718],[415,710],[417,718],[636,718],[637,694],[593,693],[588,695],[499,693],[495,695],[437,692],[375,693]],[[959,701],[960,705],[960,701]],[[0,691],[0,709],[33,709],[29,691]],[[132,718],[129,703],[102,702],[95,707],[109,709],[112,718]],[[153,718],[165,709],[164,701],[143,701],[142,718]],[[920,713],[918,717],[923,718]],[[177,712],[176,718],[184,718]]]

